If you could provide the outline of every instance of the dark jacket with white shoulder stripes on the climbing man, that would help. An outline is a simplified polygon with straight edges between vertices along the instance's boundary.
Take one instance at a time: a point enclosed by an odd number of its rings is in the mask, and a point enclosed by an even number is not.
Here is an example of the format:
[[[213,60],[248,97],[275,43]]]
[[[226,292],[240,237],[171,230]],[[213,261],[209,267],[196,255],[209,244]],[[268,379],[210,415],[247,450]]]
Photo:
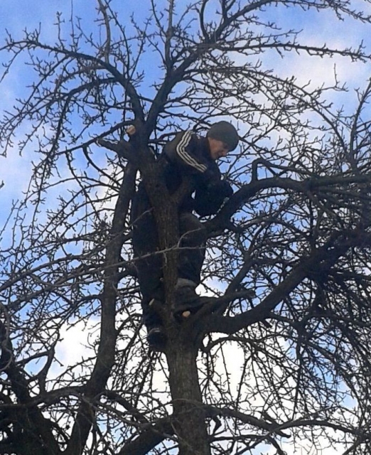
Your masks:
[[[185,177],[193,183],[193,192],[181,200],[180,213],[195,210],[200,216],[214,215],[233,193],[230,184],[222,180],[205,137],[199,138],[190,131],[180,132],[164,146],[161,159],[165,161],[163,176],[170,194],[176,192]],[[133,201],[133,220],[148,207],[148,196],[140,184]]]

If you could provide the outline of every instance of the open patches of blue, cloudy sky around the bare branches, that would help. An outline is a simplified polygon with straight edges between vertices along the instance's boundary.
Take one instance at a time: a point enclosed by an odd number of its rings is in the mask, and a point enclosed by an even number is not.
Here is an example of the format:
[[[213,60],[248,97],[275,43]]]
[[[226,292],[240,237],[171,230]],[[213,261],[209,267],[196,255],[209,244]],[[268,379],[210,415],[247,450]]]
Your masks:
[[[210,1],[209,8],[213,9],[213,5],[216,3],[216,1]],[[129,2],[129,4],[132,6],[134,2]],[[140,4],[141,8],[135,12],[137,18],[140,18],[141,15],[146,15],[148,10],[146,10],[145,5],[148,6],[149,1],[141,1]],[[159,4],[163,4],[163,0]],[[188,0],[176,1],[176,5],[179,7],[184,4],[188,4]],[[364,3],[357,1],[355,4]],[[80,16],[88,27],[94,28],[95,5],[96,2],[92,0],[1,0],[0,41],[4,40],[5,28],[16,37],[21,36],[21,31],[24,28],[37,28],[39,24],[41,24],[45,38],[53,41],[55,37],[53,23],[55,23],[57,11],[64,11],[66,17],[69,17],[71,14]],[[127,26],[130,26],[127,1],[116,0],[113,2],[113,5],[121,10],[122,20],[124,23],[127,21]],[[365,6],[368,9],[368,13],[371,14],[371,4],[365,4]],[[330,13],[317,14],[314,11],[291,11],[291,9],[279,6],[267,9],[267,17],[271,18],[271,20],[278,20],[282,25],[289,24],[291,28],[302,29],[303,38],[308,45],[331,43],[334,47],[347,47],[350,45],[356,46],[360,41],[364,41],[371,53],[371,33],[370,26],[367,24],[358,24],[355,26],[355,22],[351,20],[334,21],[333,14]],[[1,61],[4,61],[4,55],[0,53]],[[153,63],[149,63],[149,66],[151,64]],[[371,74],[370,63],[351,63],[343,57],[311,58],[308,55],[297,55],[296,53],[291,53],[291,55],[287,55],[285,58],[281,58],[276,53],[269,53],[263,59],[263,65],[267,65],[267,68],[274,68],[274,71],[280,75],[294,74],[299,82],[303,84],[309,83],[313,87],[323,83],[330,84],[333,82],[335,78],[334,72],[336,71],[338,79],[346,82],[349,90],[346,94],[341,93],[332,97],[331,101],[339,108],[344,106],[345,109],[349,109],[349,112],[355,107],[357,102],[355,89],[357,87],[365,87]],[[4,83],[0,86],[1,110],[10,109],[14,105],[15,98],[22,96],[22,87],[26,80],[27,68],[24,68],[23,65],[19,65],[16,74],[12,74],[11,77],[7,77],[4,80]],[[23,125],[19,134],[24,134],[26,131],[27,125]],[[31,149],[26,151],[23,156],[19,156],[16,148],[8,156],[0,156],[0,182],[4,181],[4,188],[0,190],[3,201],[0,225],[5,223],[12,203],[18,198],[21,198],[22,192],[26,191],[28,187],[28,181],[31,175],[31,161],[33,158],[34,154]],[[71,340],[73,340],[73,349],[71,349]],[[65,364],[77,360],[79,356],[81,358],[85,353],[85,344],[84,329],[77,325],[71,329],[70,333],[65,333],[64,343],[60,343],[58,346],[60,358]],[[81,348],[79,349],[77,346]],[[70,357],[71,352],[73,352],[72,358]],[[230,358],[235,357],[231,354]],[[239,361],[240,359],[234,360],[237,363]],[[236,368],[235,378],[232,378],[233,387],[236,388],[238,370],[240,370],[240,365]],[[160,383],[161,379],[158,381]],[[326,451],[326,455],[333,454],[335,454],[335,451]]]

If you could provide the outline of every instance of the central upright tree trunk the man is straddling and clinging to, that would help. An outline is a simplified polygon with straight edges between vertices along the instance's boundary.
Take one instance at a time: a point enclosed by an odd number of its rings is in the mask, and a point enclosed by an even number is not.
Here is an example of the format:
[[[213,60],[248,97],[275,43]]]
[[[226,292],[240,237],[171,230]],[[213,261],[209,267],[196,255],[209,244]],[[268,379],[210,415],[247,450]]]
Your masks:
[[[190,327],[178,326],[171,316],[174,287],[178,279],[179,241],[178,204],[183,193],[189,193],[190,182],[185,181],[178,193],[168,196],[166,184],[158,163],[149,162],[141,167],[146,191],[154,207],[158,230],[158,246],[163,255],[163,288],[166,311],[161,315],[168,328],[168,350],[171,397],[173,400],[173,427],[178,436],[179,455],[210,455],[208,431],[202,409],[202,395],[198,383],[196,357],[198,342]],[[166,198],[164,198],[166,195]]]

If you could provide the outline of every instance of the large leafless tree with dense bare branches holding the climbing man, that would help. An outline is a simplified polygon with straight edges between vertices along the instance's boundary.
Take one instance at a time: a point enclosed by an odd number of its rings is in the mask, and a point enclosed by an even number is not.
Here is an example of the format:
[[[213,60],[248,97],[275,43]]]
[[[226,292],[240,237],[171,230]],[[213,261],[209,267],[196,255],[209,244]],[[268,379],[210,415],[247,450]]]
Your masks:
[[[32,73],[1,147],[37,161],[1,248],[1,454],[371,454],[371,85],[349,115],[326,100],[338,82],[300,85],[264,60],[370,56],[301,43],[274,8],[370,23],[340,0],[168,0],[123,26],[98,0],[94,31],[58,15],[53,43],[8,36],[2,82],[23,55]],[[156,156],[217,119],[241,135],[224,168],[235,194],[205,220],[216,299],[180,324],[176,198]],[[163,355],[148,353],[130,246],[139,176],[164,264]],[[63,365],[74,326],[85,354]]]

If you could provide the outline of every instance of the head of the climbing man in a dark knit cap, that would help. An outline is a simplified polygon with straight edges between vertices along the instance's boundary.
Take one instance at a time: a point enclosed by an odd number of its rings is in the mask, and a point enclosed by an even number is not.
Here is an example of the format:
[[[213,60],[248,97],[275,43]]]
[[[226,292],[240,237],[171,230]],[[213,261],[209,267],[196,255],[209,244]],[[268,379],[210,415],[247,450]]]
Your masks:
[[[213,124],[206,137],[209,141],[212,159],[226,156],[228,151],[234,150],[238,144],[238,134],[235,127],[224,121]]]

